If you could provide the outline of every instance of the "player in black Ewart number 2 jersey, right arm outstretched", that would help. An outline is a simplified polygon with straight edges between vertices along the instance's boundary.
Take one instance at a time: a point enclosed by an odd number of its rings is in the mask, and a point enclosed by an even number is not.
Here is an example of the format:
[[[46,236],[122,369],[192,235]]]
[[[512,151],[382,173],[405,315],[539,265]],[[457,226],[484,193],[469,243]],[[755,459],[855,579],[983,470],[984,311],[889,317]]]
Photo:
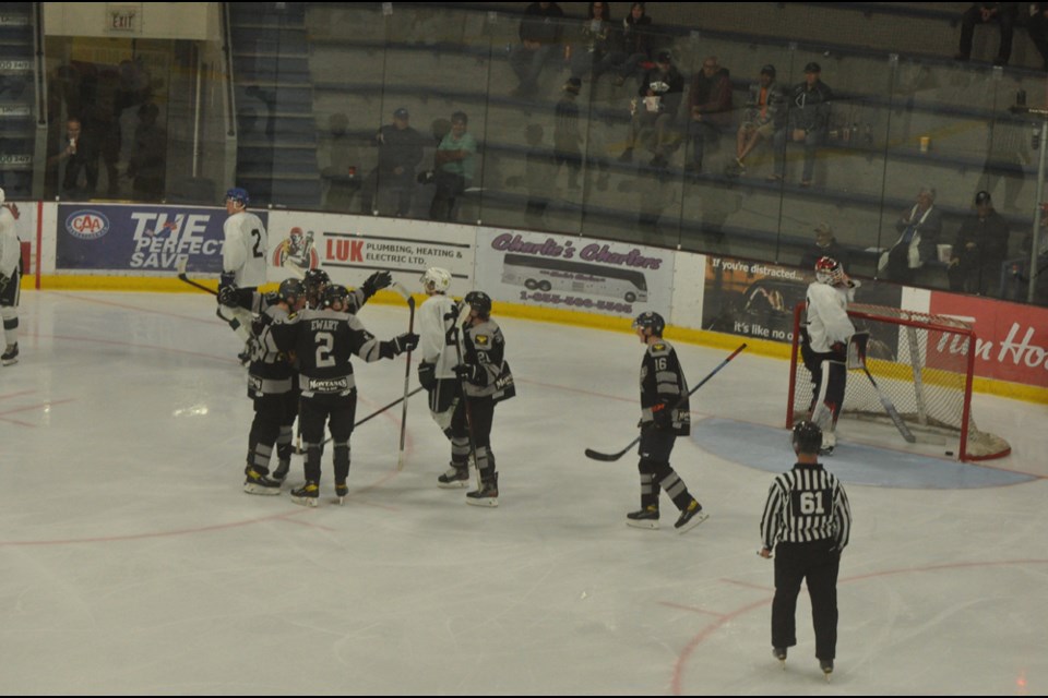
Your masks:
[[[307,309],[273,325],[277,347],[294,352],[298,361],[306,483],[291,491],[291,500],[297,504],[317,506],[325,424],[334,442],[335,494],[340,503],[348,493],[349,436],[357,409],[349,357],[356,354],[372,362],[392,359],[418,346],[418,335],[414,333],[379,341],[349,313],[349,290],[333,284],[324,291],[323,309]]]

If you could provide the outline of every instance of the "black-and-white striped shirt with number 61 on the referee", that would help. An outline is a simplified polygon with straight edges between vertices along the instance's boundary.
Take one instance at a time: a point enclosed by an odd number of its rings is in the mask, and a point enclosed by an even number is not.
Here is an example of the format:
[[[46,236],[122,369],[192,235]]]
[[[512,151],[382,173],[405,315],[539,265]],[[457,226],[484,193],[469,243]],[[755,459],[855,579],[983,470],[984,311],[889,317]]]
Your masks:
[[[775,478],[761,518],[764,547],[833,539],[844,550],[850,530],[848,496],[822,464],[798,462]]]

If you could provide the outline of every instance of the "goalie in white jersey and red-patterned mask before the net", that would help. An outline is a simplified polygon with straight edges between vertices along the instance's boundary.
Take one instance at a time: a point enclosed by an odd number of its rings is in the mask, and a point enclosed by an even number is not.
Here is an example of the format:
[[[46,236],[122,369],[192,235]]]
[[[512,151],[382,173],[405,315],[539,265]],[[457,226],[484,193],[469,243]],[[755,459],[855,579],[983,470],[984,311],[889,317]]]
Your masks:
[[[811,372],[808,413],[822,429],[820,453],[823,455],[832,454],[837,443],[834,429],[848,377],[848,340],[855,334],[848,317],[848,302],[855,298],[857,287],[833,257],[820,257],[815,262],[815,280],[808,286],[800,352],[805,366]]]

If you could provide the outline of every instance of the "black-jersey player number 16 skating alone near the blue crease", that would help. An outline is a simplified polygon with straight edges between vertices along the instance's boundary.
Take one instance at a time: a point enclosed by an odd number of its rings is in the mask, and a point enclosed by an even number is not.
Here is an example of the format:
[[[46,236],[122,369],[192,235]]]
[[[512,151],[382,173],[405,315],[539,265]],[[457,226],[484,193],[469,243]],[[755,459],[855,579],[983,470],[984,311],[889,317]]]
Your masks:
[[[669,465],[677,436],[691,433],[688,382],[672,345],[663,339],[666,322],[653,312],[641,313],[633,329],[647,350],[641,363],[641,508],[627,515],[634,528],[658,528],[658,495],[663,490],[680,509],[674,527],[683,533],[707,518],[702,505]]]

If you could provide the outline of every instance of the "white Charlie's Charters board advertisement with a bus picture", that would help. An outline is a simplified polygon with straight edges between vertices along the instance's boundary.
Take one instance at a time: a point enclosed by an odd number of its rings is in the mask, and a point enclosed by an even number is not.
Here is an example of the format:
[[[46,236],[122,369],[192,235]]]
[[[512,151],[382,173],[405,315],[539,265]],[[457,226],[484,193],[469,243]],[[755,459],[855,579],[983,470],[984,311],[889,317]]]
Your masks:
[[[674,252],[545,232],[477,230],[477,288],[497,300],[633,317],[670,306]]]

